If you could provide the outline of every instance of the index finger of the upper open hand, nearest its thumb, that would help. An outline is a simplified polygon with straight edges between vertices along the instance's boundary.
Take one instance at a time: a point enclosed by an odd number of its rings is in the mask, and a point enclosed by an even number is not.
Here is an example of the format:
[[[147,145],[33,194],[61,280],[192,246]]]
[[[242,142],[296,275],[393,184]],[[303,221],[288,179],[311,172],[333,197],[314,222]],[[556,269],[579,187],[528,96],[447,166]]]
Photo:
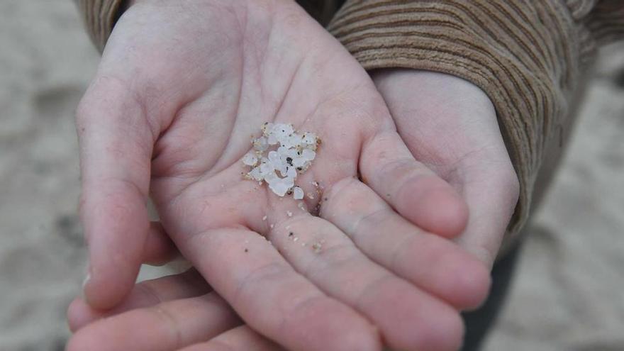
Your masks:
[[[289,350],[381,350],[372,325],[297,274],[257,233],[209,230],[179,244],[251,328]]]

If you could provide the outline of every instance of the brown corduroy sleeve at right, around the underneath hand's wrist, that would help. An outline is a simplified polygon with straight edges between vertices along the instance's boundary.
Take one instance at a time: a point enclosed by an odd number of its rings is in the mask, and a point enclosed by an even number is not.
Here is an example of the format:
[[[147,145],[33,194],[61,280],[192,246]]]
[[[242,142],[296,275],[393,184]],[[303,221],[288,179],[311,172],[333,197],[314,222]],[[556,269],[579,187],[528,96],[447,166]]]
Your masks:
[[[366,69],[444,72],[489,95],[520,179],[508,243],[596,43],[623,38],[624,1],[347,0],[329,30]]]

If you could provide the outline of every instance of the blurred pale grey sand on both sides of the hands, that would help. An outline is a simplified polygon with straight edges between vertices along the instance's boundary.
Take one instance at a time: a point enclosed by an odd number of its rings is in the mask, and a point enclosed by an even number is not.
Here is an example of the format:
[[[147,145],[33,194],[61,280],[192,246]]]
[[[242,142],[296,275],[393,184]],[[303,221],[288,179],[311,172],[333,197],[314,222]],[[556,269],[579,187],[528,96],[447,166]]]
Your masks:
[[[73,113],[98,60],[72,1],[0,1],[0,351],[63,350],[69,335],[65,308],[87,258]],[[624,45],[615,45],[485,350],[622,351],[623,330]]]

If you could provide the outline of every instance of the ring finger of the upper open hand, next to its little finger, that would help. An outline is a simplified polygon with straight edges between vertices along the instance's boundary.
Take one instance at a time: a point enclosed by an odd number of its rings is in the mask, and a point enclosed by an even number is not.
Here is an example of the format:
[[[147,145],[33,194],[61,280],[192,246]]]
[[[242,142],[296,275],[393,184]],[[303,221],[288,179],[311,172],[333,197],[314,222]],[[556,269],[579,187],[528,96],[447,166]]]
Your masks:
[[[457,308],[474,308],[485,299],[489,272],[481,262],[406,221],[366,185],[345,179],[324,196],[321,216],[374,262]]]

